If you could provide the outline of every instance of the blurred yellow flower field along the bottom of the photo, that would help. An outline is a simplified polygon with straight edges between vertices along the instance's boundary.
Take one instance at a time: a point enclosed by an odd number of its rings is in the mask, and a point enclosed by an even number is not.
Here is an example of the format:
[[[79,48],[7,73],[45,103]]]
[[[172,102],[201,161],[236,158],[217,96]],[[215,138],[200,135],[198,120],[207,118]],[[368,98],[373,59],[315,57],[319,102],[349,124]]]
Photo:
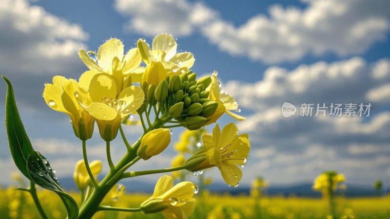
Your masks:
[[[79,195],[70,193],[76,201]],[[0,189],[0,214],[2,219],[39,219],[39,213],[28,193],[18,191],[15,187]],[[116,202],[105,199],[103,205],[116,207],[138,207],[149,194],[126,194]],[[52,192],[39,191],[39,199],[49,218],[63,219],[65,208],[59,198]],[[387,219],[389,218],[388,197],[364,197],[336,199],[337,218],[342,219]],[[257,213],[256,213],[257,212]],[[261,216],[256,216],[260,214]],[[98,212],[94,219],[163,219],[162,214],[145,215],[140,212]],[[327,218],[327,202],[322,199],[299,197],[264,197],[260,208],[255,208],[254,199],[249,196],[212,195],[207,192],[202,199],[197,197],[197,206],[190,219],[323,219]]]

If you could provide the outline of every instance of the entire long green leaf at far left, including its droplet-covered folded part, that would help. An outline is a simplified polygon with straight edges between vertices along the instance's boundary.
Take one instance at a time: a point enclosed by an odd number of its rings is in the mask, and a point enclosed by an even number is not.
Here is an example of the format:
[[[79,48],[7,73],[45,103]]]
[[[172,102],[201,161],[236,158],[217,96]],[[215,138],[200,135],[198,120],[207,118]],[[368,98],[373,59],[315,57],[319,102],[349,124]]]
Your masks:
[[[78,205],[76,201],[63,191],[47,159],[34,150],[21,122],[12,84],[5,76],[1,77],[7,83],[5,126],[16,166],[32,182],[57,193],[68,212],[68,219],[77,219]]]

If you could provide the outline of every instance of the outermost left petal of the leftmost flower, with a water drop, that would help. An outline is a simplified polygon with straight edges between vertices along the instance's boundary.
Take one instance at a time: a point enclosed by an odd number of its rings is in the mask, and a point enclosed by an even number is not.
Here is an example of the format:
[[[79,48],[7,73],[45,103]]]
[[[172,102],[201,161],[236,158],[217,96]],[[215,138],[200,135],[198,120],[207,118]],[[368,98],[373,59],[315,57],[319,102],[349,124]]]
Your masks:
[[[43,98],[45,99],[47,106],[51,109],[69,114],[62,105],[61,92],[62,88],[59,89],[55,85],[46,84],[45,89],[43,90]]]

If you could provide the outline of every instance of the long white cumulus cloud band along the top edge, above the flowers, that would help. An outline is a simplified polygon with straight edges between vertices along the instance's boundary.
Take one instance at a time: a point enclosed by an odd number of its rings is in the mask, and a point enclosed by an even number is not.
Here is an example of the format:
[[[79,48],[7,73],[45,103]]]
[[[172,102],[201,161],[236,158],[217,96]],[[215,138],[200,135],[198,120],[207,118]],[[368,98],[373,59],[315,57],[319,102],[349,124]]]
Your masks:
[[[186,0],[117,0],[130,17],[127,29],[145,35],[162,32],[188,36],[195,31],[231,55],[265,63],[295,61],[305,55],[356,55],[386,39],[388,0],[303,0],[304,9],[272,5],[235,26],[205,4]]]

